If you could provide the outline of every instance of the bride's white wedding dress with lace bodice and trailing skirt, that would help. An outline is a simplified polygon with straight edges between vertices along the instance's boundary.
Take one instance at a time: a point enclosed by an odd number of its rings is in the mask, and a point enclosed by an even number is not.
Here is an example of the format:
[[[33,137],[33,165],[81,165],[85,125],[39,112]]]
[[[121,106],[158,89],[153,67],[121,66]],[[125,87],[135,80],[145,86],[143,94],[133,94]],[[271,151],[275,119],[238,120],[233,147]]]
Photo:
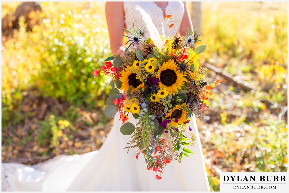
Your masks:
[[[169,22],[163,19],[163,13],[154,2],[136,2],[152,18],[160,34],[162,22],[166,35]],[[132,30],[143,25],[141,15],[135,9],[134,2],[124,2],[125,23]],[[182,2],[169,2],[166,14],[172,15],[177,30],[184,15]],[[134,118],[129,116],[130,122]],[[160,175],[147,170],[143,155],[135,159],[134,149],[122,149],[127,146],[130,136],[120,133],[119,114],[106,141],[98,151],[83,155],[60,155],[44,163],[26,166],[17,163],[2,164],[2,191],[210,191],[204,164],[203,152],[195,117],[190,122],[192,131],[197,135],[196,146],[190,148],[194,154],[183,157],[182,164],[169,163]]]

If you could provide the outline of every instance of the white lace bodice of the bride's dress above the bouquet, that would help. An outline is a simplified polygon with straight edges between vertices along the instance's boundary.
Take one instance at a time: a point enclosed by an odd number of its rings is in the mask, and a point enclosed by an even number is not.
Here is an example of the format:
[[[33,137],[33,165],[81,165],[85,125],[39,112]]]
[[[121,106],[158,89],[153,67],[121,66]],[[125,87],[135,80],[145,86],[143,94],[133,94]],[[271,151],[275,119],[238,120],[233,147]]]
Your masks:
[[[165,20],[163,17],[162,9],[154,2],[123,2],[125,11],[125,24],[129,31],[133,31],[132,24],[135,24],[135,29],[144,26],[141,14],[136,10],[136,5],[139,5],[147,14],[151,16],[154,25],[157,27],[160,35],[162,34],[162,27],[164,26],[166,36],[172,36],[176,34],[175,29],[169,30],[170,20]],[[166,15],[172,15],[172,22],[177,31],[179,31],[182,19],[184,16],[185,8],[182,2],[169,2],[166,6]],[[162,24],[163,23],[163,24]],[[148,34],[146,34],[146,38]]]

